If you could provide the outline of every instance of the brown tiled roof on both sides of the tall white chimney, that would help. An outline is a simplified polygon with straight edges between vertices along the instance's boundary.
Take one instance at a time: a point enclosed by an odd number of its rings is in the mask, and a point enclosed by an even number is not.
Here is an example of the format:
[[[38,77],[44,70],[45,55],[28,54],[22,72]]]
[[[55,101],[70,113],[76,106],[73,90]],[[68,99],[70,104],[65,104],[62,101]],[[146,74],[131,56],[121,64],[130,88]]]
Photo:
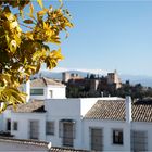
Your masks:
[[[132,102],[131,113],[134,122],[152,122],[152,101]],[[125,100],[99,100],[85,118],[125,121]]]

